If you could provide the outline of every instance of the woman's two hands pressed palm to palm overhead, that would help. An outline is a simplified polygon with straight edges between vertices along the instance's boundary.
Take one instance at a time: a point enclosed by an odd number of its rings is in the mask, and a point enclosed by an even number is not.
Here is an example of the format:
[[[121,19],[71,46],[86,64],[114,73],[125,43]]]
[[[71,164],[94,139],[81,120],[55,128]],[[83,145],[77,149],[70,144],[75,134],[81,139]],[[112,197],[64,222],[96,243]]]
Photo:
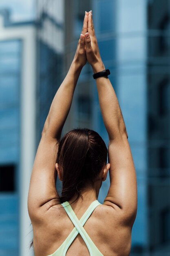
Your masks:
[[[88,61],[92,67],[96,63],[102,63],[95,36],[92,11],[85,13],[82,34],[79,38],[74,59],[82,67],[86,64],[86,61]]]

